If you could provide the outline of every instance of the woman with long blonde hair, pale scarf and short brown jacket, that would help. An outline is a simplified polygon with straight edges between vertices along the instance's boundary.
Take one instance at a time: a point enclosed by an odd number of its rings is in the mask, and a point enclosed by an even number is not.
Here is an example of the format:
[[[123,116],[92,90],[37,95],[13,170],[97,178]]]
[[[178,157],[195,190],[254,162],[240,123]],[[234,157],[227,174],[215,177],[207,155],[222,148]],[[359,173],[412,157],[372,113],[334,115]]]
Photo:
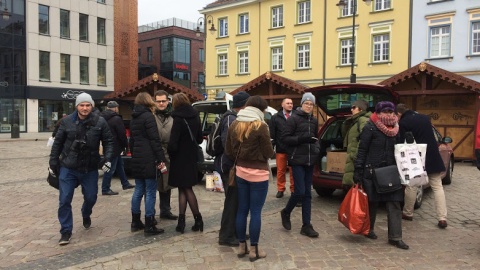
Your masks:
[[[270,170],[268,159],[273,155],[268,125],[264,121],[267,102],[260,96],[250,97],[237,119],[228,129],[225,154],[236,160],[235,184],[238,189],[236,231],[239,258],[249,254],[250,261],[267,254],[258,248],[261,214],[268,192]],[[247,217],[250,213],[250,250],[246,244]]]

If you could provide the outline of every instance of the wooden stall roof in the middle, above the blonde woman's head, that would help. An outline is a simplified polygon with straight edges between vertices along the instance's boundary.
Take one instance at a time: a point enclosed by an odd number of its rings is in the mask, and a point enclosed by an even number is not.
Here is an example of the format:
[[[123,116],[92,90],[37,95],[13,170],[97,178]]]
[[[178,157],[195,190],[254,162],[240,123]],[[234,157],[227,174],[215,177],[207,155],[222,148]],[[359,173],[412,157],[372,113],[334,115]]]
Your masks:
[[[257,78],[249,81],[248,83],[240,86],[239,88],[233,90],[230,94],[235,95],[236,93],[240,91],[245,91],[249,92],[250,90],[258,88],[258,86],[266,83],[266,82],[273,82],[279,86],[282,86],[285,89],[291,90],[299,95],[303,95],[305,93],[305,90],[308,89],[308,86],[303,85],[301,83],[298,83],[294,80],[287,79],[285,77],[282,77],[280,75],[277,75],[272,72],[266,72]],[[271,95],[270,93],[265,93],[268,95]]]

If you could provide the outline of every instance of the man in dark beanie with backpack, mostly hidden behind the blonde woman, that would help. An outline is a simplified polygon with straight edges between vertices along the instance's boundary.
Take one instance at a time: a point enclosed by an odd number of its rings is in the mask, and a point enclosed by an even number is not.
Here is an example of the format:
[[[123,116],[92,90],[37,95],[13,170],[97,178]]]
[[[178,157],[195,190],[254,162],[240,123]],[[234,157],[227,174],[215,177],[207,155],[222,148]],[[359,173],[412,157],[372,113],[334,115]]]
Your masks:
[[[243,91],[233,95],[233,108],[225,112],[222,116],[220,136],[222,138],[223,149],[225,149],[225,143],[227,141],[228,128],[232,122],[237,119],[238,111],[245,108],[245,103],[247,103],[248,98],[250,98],[250,95]],[[235,231],[235,221],[237,217],[238,194],[236,187],[228,186],[228,175],[232,166],[233,161],[224,153],[215,157],[215,170],[220,173],[225,188],[225,201],[223,204],[218,243],[223,246],[236,247],[238,246],[238,239]]]

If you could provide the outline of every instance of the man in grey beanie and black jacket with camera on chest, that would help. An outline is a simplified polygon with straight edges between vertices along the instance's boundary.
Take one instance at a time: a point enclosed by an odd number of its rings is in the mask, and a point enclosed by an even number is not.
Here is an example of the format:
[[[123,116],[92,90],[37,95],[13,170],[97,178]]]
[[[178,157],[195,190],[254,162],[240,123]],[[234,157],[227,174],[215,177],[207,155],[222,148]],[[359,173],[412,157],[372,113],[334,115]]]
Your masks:
[[[82,186],[83,226],[89,229],[92,222],[90,215],[97,202],[98,168],[101,166],[104,172],[110,171],[113,158],[112,133],[107,121],[92,113],[95,106],[92,97],[87,93],[78,95],[75,106],[76,110],[60,123],[50,152],[48,169],[59,180],[60,245],[67,245],[72,237],[75,188]],[[100,164],[100,141],[105,156],[104,164]]]

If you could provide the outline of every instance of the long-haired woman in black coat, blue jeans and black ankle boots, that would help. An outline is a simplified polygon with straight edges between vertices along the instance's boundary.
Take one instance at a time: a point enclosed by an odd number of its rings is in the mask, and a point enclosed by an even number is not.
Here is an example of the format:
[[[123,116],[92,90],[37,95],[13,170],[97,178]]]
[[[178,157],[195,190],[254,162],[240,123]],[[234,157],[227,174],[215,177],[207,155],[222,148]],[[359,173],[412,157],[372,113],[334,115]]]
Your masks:
[[[148,93],[138,94],[130,121],[132,176],[135,178],[131,230],[134,232],[144,229],[145,236],[163,232],[163,229],[157,229],[154,224],[157,170],[165,166],[165,155],[160,144],[157,122],[152,113],[154,108],[155,103]],[[145,227],[140,220],[140,205],[144,194]]]

